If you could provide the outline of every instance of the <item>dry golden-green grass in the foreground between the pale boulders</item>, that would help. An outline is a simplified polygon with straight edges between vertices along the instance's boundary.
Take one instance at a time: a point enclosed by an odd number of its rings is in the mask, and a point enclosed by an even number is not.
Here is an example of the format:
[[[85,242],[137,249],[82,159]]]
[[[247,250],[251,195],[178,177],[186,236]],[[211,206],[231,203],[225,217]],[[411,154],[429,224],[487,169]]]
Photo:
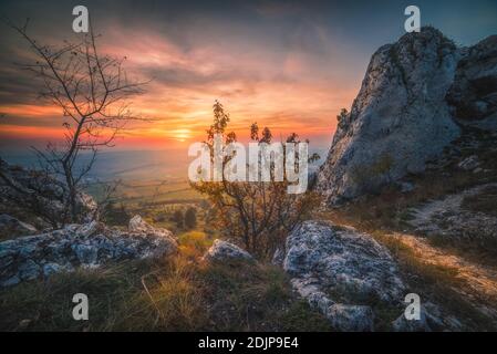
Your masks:
[[[0,293],[2,331],[327,331],[328,321],[297,299],[286,273],[262,263],[208,264],[203,232],[182,235],[168,260],[62,273]],[[85,293],[90,320],[74,321]]]

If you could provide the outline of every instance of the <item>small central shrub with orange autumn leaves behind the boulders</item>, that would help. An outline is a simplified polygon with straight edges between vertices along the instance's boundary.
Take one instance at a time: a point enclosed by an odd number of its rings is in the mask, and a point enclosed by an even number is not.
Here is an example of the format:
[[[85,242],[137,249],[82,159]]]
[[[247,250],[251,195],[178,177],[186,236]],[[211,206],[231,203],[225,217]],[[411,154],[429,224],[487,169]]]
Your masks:
[[[230,118],[222,105],[216,101],[213,108],[214,123],[207,131],[205,140],[210,148],[211,160],[215,135],[220,134],[225,144],[237,140],[236,134],[228,132]],[[260,132],[257,123],[250,127],[250,137],[258,144],[270,144],[272,140],[271,131],[265,127]],[[286,142],[300,143],[294,133],[290,134]],[[284,149],[283,142],[281,144]],[[222,167],[230,158],[232,157],[224,157]],[[314,154],[309,162],[318,158]],[[259,258],[268,258],[276,249],[283,247],[287,235],[308,218],[320,202],[319,196],[312,191],[288,194],[287,178],[283,181],[275,180],[273,168],[271,165],[270,181],[228,181],[222,178],[221,181],[191,183],[193,187],[206,195],[213,204],[216,214],[215,226],[224,237],[240,243]]]

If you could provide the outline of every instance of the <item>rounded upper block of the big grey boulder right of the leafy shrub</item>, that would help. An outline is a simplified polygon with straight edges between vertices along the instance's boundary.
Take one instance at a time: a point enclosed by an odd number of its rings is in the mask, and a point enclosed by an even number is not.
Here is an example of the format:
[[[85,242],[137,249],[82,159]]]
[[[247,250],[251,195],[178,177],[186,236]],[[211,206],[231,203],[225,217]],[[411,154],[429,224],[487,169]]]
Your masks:
[[[319,283],[346,296],[400,301],[405,287],[389,251],[370,236],[327,221],[306,221],[287,239],[283,268],[294,278]]]

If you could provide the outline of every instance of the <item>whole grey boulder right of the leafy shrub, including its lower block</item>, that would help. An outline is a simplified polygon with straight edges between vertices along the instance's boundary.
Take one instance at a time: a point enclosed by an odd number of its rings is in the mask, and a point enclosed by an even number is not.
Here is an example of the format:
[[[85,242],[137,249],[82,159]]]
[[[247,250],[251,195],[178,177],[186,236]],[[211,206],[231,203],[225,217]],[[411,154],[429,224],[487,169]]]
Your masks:
[[[288,237],[283,269],[297,292],[341,331],[372,331],[367,301],[401,303],[406,290],[384,247],[327,221],[306,221]]]

